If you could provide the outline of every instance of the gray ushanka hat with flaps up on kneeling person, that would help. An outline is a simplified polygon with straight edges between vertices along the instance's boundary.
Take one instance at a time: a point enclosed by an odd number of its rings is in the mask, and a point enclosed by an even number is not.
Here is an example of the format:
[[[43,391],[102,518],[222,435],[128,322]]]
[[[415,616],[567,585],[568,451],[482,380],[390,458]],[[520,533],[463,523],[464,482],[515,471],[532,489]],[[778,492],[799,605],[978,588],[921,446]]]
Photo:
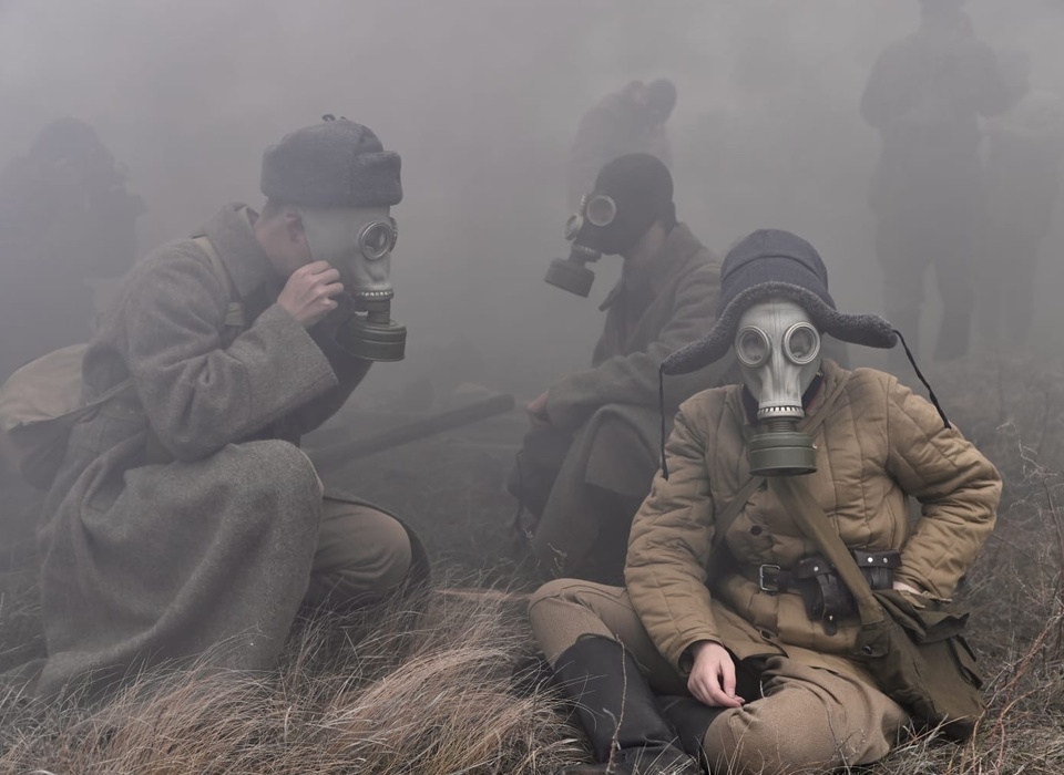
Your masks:
[[[305,207],[388,207],[402,199],[399,154],[368,126],[325,116],[266,148],[260,188]]]

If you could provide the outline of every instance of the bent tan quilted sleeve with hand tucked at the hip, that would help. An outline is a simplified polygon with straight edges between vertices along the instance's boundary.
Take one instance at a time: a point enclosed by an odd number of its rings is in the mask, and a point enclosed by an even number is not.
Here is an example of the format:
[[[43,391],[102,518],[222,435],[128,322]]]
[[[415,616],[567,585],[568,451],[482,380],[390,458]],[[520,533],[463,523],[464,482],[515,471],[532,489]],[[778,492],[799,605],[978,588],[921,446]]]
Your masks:
[[[949,598],[990,536],[1001,476],[934,407],[894,378],[887,396],[889,473],[920,502],[921,516],[896,576]]]

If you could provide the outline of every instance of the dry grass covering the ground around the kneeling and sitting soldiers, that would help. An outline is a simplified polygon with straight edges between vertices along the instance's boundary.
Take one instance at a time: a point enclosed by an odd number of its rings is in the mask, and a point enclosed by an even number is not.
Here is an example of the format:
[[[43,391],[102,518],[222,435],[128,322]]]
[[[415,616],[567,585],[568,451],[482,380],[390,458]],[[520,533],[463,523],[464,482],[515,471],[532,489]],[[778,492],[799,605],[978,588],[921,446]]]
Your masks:
[[[969,639],[989,676],[990,711],[968,745],[915,738],[862,772],[1058,775],[1064,373],[971,361],[931,378],[951,418],[1006,477],[996,534],[961,591],[974,609]],[[559,698],[533,674],[512,675],[533,644],[522,602],[505,590],[533,581],[509,530],[508,463],[438,438],[361,461],[345,479],[411,516],[439,583],[453,585],[447,572],[477,572],[466,587],[503,591],[434,591],[421,616],[395,608],[300,622],[268,674],[143,676],[94,710],[9,693],[0,699],[0,775],[539,774],[585,758]],[[31,577],[0,577],[0,669],[39,650]]]

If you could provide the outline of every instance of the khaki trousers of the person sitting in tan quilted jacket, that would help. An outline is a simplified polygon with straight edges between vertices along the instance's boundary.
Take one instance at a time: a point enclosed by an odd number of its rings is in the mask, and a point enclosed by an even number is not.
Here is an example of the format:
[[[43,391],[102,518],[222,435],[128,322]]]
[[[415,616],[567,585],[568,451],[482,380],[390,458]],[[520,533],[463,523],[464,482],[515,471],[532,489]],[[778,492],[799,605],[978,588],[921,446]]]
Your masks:
[[[689,694],[686,676],[658,652],[624,588],[551,581],[532,596],[529,616],[551,664],[580,638],[612,638],[656,693]],[[759,678],[760,693],[747,693],[745,705],[723,711],[706,732],[714,772],[822,773],[868,764],[887,755],[909,720],[873,686],[786,657],[768,658]]]

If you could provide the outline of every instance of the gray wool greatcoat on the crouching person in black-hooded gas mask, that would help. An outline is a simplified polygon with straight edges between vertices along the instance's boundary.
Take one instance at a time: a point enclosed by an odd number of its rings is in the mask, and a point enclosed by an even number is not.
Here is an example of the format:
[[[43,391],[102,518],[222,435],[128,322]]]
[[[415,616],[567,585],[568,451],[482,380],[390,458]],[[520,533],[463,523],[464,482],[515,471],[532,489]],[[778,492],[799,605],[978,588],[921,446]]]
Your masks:
[[[633,309],[626,283],[649,297]],[[684,224],[668,235],[647,277],[622,278],[602,309],[606,321],[592,366],[551,385],[546,411],[554,430],[573,433],[572,446],[543,509],[533,548],[559,572],[579,572],[594,551],[597,518],[586,485],[642,499],[661,459],[662,359],[699,339],[716,319],[720,262]],[[666,432],[681,402],[730,376],[733,361],[665,378]],[[626,529],[627,526],[624,526]],[[567,561],[559,561],[564,556]]]

